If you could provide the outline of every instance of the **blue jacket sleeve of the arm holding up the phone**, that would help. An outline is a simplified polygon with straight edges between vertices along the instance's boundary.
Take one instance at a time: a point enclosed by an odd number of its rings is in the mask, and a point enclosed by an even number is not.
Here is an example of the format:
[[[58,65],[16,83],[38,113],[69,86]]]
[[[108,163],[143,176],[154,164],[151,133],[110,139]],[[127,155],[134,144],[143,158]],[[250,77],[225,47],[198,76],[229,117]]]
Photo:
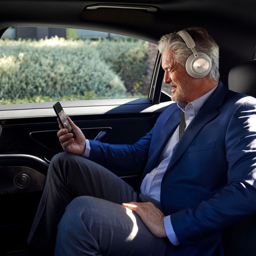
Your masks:
[[[140,174],[148,160],[149,145],[153,129],[133,145],[115,145],[89,140],[89,159],[118,175]]]

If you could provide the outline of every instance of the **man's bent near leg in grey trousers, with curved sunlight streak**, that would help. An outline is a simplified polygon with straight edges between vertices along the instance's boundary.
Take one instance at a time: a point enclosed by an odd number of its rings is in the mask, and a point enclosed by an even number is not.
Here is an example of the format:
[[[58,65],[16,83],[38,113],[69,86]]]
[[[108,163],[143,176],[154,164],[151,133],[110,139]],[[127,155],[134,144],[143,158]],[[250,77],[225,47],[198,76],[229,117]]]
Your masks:
[[[164,256],[166,242],[130,209],[95,197],[77,197],[58,226],[54,256]]]

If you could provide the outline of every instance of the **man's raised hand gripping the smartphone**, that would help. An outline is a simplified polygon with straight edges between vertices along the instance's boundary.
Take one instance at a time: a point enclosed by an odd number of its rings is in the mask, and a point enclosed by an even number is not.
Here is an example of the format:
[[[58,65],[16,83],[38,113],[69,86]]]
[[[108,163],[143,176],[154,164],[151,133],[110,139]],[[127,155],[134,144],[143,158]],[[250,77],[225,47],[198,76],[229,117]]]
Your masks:
[[[83,155],[85,152],[85,136],[82,133],[82,131],[72,122],[72,120],[67,117],[69,120],[69,123],[75,133],[76,139],[74,140],[72,138],[73,134],[72,133],[67,133],[67,129],[63,129],[62,125],[59,121],[58,118],[58,123],[59,123],[59,131],[57,133],[57,136],[59,137],[59,142],[62,146],[62,148],[67,151],[71,152],[77,155]]]

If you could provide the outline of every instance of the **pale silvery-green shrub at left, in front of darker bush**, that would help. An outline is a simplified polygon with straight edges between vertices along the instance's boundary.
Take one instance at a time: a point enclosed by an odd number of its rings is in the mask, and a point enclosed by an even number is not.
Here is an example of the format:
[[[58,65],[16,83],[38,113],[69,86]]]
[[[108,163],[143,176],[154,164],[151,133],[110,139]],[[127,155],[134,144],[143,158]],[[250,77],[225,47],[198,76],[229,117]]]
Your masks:
[[[124,83],[91,42],[51,39],[0,41],[0,98],[84,95],[117,97]]]

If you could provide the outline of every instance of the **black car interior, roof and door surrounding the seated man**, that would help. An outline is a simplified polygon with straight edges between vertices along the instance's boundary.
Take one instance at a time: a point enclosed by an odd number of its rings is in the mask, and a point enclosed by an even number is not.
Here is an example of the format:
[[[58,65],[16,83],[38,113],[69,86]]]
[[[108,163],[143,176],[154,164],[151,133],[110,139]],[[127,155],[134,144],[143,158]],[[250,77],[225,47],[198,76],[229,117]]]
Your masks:
[[[218,43],[223,84],[256,97],[254,1],[0,0],[0,37],[9,27],[58,27],[120,34],[157,45],[162,35],[192,26],[205,28]],[[133,144],[173,103],[162,91],[163,75],[157,53],[146,98],[61,104],[86,138]],[[0,104],[0,255],[38,255],[28,247],[27,236],[50,160],[63,151],[56,136],[59,125],[54,103]],[[140,180],[133,171],[116,174],[132,186]],[[222,239],[225,255],[255,255],[255,238],[256,216],[248,216],[226,230]]]

